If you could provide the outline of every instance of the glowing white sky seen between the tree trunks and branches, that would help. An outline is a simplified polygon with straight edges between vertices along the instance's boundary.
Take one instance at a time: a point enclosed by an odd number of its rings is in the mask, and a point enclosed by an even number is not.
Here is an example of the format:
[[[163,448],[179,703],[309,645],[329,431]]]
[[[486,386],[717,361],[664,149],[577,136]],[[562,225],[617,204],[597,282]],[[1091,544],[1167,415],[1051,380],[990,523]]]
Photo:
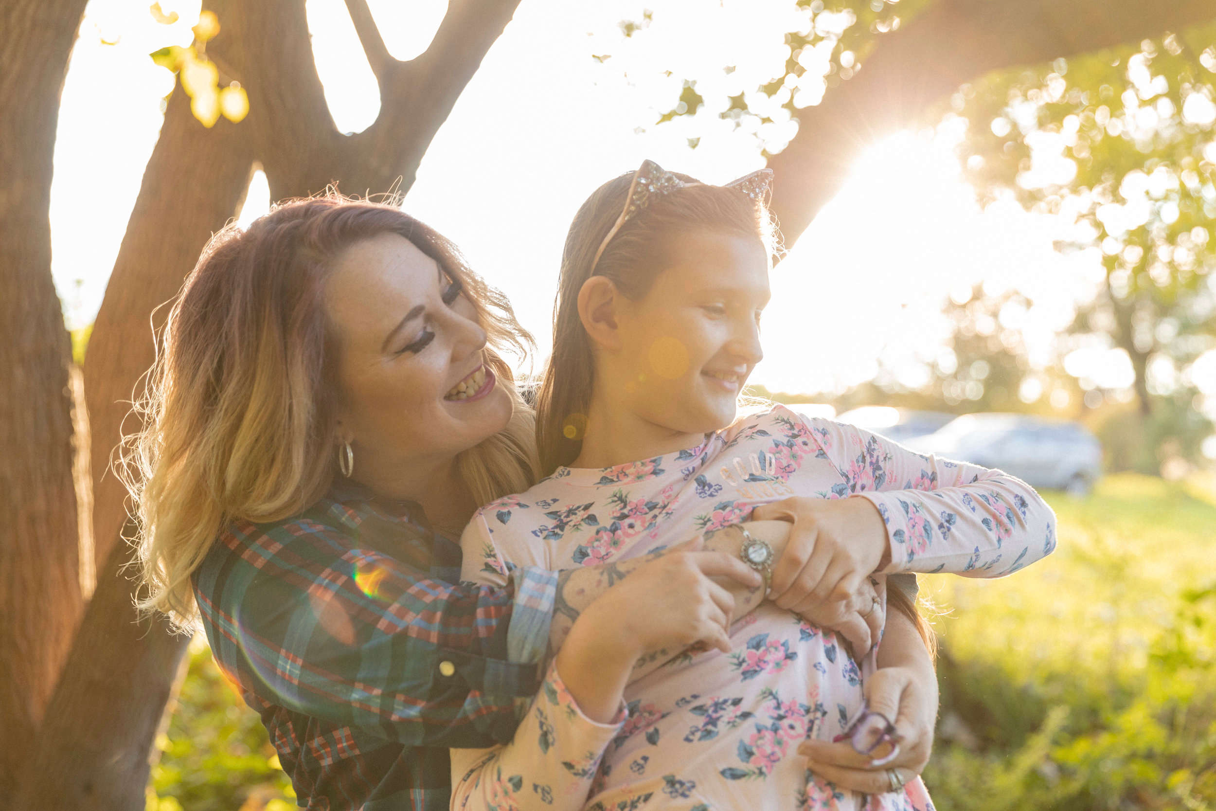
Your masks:
[[[389,49],[406,58],[426,46],[446,2],[371,5]],[[92,0],[73,53],[51,196],[54,272],[71,326],[91,321],[100,305],[156,143],[161,100],[173,86],[147,55],[188,45],[197,19],[197,0],[162,7],[178,11],[181,22],[158,24],[142,2]],[[640,19],[642,7],[627,0],[523,0],[405,199],[407,210],[454,238],[510,295],[541,357],[550,348],[565,230],[596,186],[647,157],[708,182],[762,165],[754,135],[719,119],[716,109],[654,122],[675,103],[677,77],[721,77],[715,81],[731,92],[766,81],[773,60],[784,60],[782,33],[799,24],[794,4],[652,0],[646,7],[654,11],[653,26],[624,38],[618,22]],[[343,0],[308,0],[308,13],[334,120],[360,130],[379,102]],[[738,69],[727,75],[726,64]],[[805,92],[817,96],[814,86]],[[980,210],[951,152],[961,125],[956,119],[936,133],[901,133],[868,147],[773,274],[766,357],[754,382],[784,392],[839,390],[872,377],[884,357],[914,384],[923,366],[906,361],[938,355],[947,334],[941,303],[975,282],[1015,287],[1038,304],[1026,332],[1032,351],[1046,357],[1052,333],[1100,278],[1097,257],[1053,250],[1069,227],[1060,219],[1028,214],[1012,202]],[[779,140],[792,131],[778,120],[766,135]],[[691,135],[700,136],[696,150]],[[264,213],[266,195],[264,179],[255,178],[241,219]],[[1096,350],[1082,366],[1100,382],[1130,382],[1125,355]],[[1210,366],[1216,392],[1216,362]]]

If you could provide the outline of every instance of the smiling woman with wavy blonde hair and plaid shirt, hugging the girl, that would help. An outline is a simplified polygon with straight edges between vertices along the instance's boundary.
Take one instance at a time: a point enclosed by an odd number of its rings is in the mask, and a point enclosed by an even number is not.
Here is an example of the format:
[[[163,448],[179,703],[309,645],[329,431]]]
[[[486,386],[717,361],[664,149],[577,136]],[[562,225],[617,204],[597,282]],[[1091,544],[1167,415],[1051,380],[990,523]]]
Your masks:
[[[609,624],[647,651],[721,646],[760,601],[726,536],[457,584],[474,509],[536,478],[534,417],[502,356],[529,343],[450,241],[337,195],[220,231],[173,304],[126,455],[141,606],[206,630],[306,807],[446,807],[447,747],[510,740],[568,633],[587,663]],[[809,539],[790,533],[786,599],[868,648],[872,588],[824,602],[803,563],[849,552]],[[936,708],[923,674],[922,739]]]

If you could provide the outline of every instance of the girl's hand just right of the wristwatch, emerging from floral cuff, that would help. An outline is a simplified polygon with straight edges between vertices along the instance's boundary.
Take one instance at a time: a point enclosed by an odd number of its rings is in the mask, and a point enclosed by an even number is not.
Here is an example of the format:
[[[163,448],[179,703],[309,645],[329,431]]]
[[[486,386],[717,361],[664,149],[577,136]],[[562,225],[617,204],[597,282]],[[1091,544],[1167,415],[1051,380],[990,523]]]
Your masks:
[[[792,496],[761,505],[754,520],[793,524],[772,573],[770,598],[807,621],[839,630],[863,655],[883,627],[868,582],[889,557],[886,525],[867,499]]]

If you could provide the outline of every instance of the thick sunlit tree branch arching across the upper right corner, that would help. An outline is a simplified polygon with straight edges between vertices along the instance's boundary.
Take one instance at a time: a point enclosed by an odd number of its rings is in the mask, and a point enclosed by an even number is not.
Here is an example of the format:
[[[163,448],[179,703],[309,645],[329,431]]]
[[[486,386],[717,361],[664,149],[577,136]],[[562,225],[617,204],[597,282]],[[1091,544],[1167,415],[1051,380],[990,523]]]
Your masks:
[[[878,38],[873,53],[769,159],[772,210],[793,246],[839,191],[857,154],[916,122],[931,102],[998,68],[1036,64],[1216,19],[1212,0],[939,0]]]

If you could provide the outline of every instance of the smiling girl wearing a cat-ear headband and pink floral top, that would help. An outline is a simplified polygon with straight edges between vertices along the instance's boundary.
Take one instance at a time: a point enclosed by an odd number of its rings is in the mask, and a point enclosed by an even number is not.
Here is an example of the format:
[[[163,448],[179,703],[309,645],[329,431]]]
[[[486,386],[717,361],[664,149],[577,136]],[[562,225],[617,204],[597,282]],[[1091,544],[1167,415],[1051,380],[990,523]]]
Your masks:
[[[843,500],[824,519],[846,516],[882,573],[1001,576],[1051,552],[1051,508],[998,471],[782,406],[737,418],[769,300],[766,175],[715,187],[647,162],[582,205],[540,393],[551,475],[477,513],[465,579],[643,556],[790,495]],[[728,642],[576,697],[559,653],[511,744],[452,750],[452,807],[931,807],[919,778],[866,798],[796,754],[863,709],[861,669],[834,633],[769,602]],[[632,659],[597,664],[627,674]]]

